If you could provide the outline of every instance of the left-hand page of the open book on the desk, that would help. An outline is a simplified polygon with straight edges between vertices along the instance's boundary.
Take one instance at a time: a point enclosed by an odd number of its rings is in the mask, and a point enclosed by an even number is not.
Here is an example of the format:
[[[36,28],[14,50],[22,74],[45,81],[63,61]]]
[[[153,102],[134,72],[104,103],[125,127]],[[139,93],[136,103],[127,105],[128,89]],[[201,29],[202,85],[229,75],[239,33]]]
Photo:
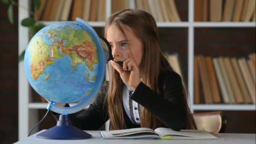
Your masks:
[[[128,136],[136,133],[145,133],[145,135],[152,133],[153,135],[159,137],[158,134],[150,128],[131,128],[125,130],[100,131],[102,138]]]

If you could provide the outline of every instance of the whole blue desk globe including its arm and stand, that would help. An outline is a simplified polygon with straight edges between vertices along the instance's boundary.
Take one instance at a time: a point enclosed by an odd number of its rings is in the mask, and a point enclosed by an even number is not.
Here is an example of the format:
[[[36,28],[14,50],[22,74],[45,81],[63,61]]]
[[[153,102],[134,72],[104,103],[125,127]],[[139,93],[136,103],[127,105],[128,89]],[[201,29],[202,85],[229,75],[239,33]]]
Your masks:
[[[113,57],[107,40],[83,19],[50,24],[32,37],[24,56],[27,79],[40,96],[49,100],[46,115],[49,110],[61,114],[57,125],[37,134],[37,138],[91,138],[91,134],[72,126],[68,114],[93,101],[110,59]],[[72,107],[55,104],[74,102],[78,104]]]

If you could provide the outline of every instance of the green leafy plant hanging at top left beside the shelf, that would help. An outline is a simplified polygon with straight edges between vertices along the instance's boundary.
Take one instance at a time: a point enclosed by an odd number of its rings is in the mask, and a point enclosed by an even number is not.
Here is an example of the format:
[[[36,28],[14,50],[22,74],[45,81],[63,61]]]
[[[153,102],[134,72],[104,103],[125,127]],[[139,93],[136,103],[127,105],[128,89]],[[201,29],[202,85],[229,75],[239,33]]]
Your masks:
[[[9,5],[8,6],[8,11],[7,11],[7,16],[8,16],[8,20],[10,21],[11,24],[13,24],[13,6],[18,6],[20,8],[24,8],[27,11],[29,11],[28,8],[20,5],[19,3],[17,3],[15,0],[1,0],[2,3],[4,3],[5,5]],[[40,0],[34,0],[34,6],[35,8],[38,10],[40,8]],[[24,27],[29,27],[30,30],[33,31],[34,35],[43,27],[45,27],[44,24],[39,23],[37,20],[37,17],[35,16],[35,13],[33,11],[29,11],[29,17],[25,18],[21,21],[21,25]],[[23,61],[24,60],[24,55],[25,55],[25,51],[23,51],[20,55],[19,55],[19,61]]]

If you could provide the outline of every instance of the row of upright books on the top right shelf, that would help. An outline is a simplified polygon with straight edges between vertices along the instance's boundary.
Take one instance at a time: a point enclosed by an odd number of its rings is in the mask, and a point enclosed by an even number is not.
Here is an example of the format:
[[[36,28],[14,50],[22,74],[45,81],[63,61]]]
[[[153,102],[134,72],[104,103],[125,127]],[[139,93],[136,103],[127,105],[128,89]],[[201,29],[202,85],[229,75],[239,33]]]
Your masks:
[[[195,0],[195,21],[255,20],[255,0]]]

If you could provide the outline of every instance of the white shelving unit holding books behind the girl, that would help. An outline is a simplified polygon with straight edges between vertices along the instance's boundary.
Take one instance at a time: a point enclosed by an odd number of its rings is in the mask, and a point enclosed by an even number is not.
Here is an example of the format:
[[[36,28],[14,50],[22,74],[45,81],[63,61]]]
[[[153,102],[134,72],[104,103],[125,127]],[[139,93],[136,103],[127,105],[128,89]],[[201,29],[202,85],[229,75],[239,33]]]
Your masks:
[[[130,0],[130,8],[134,8],[134,0]],[[256,110],[255,104],[194,104],[193,75],[194,75],[194,30],[195,27],[256,27],[255,22],[195,22],[194,0],[189,2],[189,20],[187,22],[157,22],[158,27],[187,27],[188,28],[188,91],[190,93],[189,107],[195,110]],[[19,0],[29,8],[29,0]],[[111,14],[111,0],[107,0],[106,16]],[[19,8],[19,54],[29,43],[29,29],[20,25],[21,20],[29,16],[28,11]],[[41,21],[52,24],[56,21]],[[104,22],[89,22],[93,27],[104,27]],[[27,137],[29,130],[38,122],[38,109],[46,109],[47,103],[31,102],[29,83],[24,72],[24,62],[19,62],[19,140]],[[34,130],[36,131],[36,130]]]

